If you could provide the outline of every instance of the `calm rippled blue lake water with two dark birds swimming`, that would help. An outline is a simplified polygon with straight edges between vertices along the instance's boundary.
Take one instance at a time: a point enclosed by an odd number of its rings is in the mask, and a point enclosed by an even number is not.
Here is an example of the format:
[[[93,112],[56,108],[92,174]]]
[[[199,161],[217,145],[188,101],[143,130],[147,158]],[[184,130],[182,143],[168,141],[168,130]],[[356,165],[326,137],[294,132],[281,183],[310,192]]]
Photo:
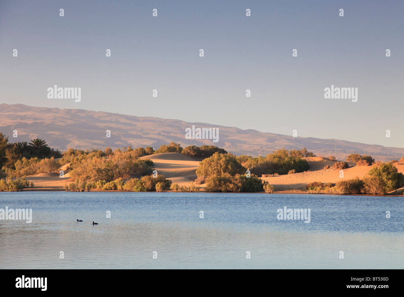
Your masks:
[[[32,209],[33,216],[32,223],[0,220],[0,268],[402,269],[403,202],[309,194],[0,192],[0,209]],[[310,223],[278,220],[284,206],[310,209]]]

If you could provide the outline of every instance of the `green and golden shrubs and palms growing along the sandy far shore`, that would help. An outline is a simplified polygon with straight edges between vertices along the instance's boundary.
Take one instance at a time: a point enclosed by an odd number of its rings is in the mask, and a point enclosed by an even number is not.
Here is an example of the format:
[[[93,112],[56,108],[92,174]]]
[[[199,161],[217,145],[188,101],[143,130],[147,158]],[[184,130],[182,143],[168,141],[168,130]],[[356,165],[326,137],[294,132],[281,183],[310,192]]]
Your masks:
[[[201,160],[196,170],[197,178],[187,186],[172,183],[163,175],[154,175],[152,160],[141,158],[152,154],[181,153]],[[181,147],[178,143],[153,147],[130,146],[112,150],[75,150],[59,152],[50,148],[42,139],[9,143],[0,133],[0,191],[20,191],[33,187],[25,179],[38,173],[59,174],[59,168],[68,164],[70,182],[66,191],[115,190],[135,192],[199,192],[205,184],[207,192],[274,192],[262,177],[301,173],[309,170],[305,158],[314,157],[312,152],[302,150],[276,150],[266,156],[235,156],[213,145]],[[330,156],[329,160],[335,160]],[[342,180],[338,183],[313,182],[307,184],[307,192],[324,191],[331,194],[379,194],[398,189],[403,175],[391,162],[375,162],[371,156],[351,154],[347,162],[357,166],[373,166],[362,178]],[[349,167],[345,161],[334,163],[335,170]],[[399,161],[404,163],[404,157]],[[326,165],[324,169],[330,168]]]

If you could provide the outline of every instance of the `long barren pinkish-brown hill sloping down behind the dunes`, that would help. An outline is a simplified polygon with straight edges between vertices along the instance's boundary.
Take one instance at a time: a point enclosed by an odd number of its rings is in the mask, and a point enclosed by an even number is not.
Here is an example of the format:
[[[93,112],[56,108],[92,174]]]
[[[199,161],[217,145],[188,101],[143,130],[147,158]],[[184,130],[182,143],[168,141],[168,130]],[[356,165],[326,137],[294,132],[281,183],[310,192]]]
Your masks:
[[[219,128],[219,141],[208,139],[185,139],[185,128]],[[13,138],[13,130],[18,138]],[[111,137],[106,137],[106,130]],[[93,112],[79,109],[32,107],[23,104],[0,104],[0,132],[9,141],[29,141],[42,138],[50,147],[80,150],[152,146],[175,141],[181,145],[217,145],[236,155],[266,155],[280,148],[307,150],[317,155],[330,154],[342,160],[350,153],[368,154],[376,160],[394,160],[404,156],[404,148],[369,145],[338,139],[292,137],[257,130],[242,130],[236,127],[207,123],[190,123],[153,117],[138,117],[109,112]]]

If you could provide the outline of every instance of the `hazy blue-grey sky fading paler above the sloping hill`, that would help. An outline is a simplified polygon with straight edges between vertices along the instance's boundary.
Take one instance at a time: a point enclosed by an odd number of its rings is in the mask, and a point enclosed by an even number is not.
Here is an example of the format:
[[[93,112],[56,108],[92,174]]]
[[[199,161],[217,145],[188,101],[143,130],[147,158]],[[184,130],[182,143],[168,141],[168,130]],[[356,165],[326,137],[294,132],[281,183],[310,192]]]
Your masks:
[[[403,15],[402,0],[0,0],[0,103],[404,147]],[[55,84],[81,101],[48,99]],[[358,101],[324,99],[332,84]]]

